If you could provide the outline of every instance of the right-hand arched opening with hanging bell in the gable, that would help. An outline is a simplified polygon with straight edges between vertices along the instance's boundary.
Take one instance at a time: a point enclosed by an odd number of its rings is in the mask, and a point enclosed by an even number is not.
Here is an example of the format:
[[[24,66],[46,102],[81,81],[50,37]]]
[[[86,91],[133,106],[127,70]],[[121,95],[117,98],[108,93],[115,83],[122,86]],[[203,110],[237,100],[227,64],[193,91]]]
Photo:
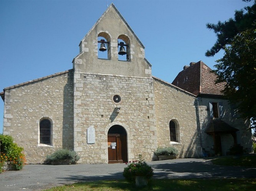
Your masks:
[[[130,39],[126,35],[118,37],[118,60],[130,61]]]

